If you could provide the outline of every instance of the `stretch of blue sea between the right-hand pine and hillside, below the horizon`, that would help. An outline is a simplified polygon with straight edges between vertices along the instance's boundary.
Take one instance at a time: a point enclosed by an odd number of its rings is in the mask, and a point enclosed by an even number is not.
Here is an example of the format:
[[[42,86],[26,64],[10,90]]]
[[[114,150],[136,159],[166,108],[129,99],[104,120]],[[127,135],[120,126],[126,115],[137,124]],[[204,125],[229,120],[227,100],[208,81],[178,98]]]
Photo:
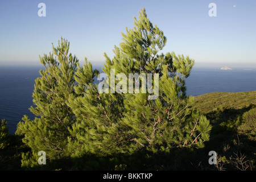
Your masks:
[[[193,68],[186,85],[187,94],[191,96],[211,92],[254,91],[256,90],[256,69]]]

